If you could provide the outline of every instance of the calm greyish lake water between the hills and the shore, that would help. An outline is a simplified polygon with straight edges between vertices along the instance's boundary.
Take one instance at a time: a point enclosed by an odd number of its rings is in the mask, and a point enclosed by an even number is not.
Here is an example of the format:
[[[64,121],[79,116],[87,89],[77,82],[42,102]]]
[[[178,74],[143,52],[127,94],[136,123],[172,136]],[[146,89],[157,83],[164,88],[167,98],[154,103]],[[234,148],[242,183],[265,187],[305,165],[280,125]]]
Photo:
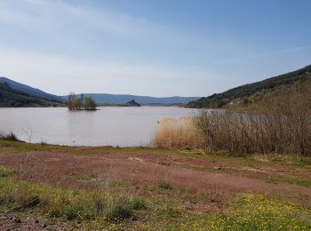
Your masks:
[[[100,108],[70,112],[67,108],[0,108],[0,131],[14,132],[32,143],[70,146],[148,146],[157,121],[191,116],[177,107]]]

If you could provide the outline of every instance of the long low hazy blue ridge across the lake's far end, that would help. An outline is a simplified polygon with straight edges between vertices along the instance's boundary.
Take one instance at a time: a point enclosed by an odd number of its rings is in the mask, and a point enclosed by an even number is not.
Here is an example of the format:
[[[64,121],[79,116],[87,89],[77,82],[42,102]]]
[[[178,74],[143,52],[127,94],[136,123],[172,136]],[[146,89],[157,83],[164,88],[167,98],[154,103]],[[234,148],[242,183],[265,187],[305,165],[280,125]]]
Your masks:
[[[137,96],[127,94],[96,94],[85,93],[84,96],[92,97],[97,104],[124,104],[128,101],[135,100],[140,105],[170,105],[170,104],[184,104],[192,100],[198,100],[200,97],[150,97],[150,96]],[[62,96],[63,100],[67,100],[68,96]]]

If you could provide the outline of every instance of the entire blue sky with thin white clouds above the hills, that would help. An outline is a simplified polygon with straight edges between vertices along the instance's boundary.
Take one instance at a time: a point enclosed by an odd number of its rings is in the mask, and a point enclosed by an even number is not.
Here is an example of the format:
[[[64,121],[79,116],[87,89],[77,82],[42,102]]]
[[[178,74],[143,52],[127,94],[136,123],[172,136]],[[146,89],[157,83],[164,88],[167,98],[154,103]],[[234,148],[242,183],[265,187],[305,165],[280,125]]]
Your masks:
[[[207,96],[311,64],[309,0],[0,0],[0,76]]]

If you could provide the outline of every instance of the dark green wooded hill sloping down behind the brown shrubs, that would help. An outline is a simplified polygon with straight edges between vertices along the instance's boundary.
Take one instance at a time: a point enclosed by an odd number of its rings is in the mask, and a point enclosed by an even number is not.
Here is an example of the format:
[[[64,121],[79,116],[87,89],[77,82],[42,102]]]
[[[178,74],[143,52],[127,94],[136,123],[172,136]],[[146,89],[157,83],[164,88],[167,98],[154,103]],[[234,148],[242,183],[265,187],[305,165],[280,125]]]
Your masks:
[[[186,108],[226,108],[243,107],[259,100],[283,92],[294,84],[311,81],[311,65],[299,70],[259,81],[194,100],[185,105]]]

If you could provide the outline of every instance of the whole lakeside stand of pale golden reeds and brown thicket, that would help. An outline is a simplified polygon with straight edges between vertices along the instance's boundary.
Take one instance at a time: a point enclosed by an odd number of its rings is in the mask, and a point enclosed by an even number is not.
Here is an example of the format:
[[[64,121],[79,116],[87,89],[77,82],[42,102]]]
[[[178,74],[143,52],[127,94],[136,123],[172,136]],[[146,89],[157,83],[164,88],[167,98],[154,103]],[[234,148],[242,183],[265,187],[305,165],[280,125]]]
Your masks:
[[[311,84],[270,94],[243,112],[204,110],[198,116],[164,119],[153,145],[311,156]]]

